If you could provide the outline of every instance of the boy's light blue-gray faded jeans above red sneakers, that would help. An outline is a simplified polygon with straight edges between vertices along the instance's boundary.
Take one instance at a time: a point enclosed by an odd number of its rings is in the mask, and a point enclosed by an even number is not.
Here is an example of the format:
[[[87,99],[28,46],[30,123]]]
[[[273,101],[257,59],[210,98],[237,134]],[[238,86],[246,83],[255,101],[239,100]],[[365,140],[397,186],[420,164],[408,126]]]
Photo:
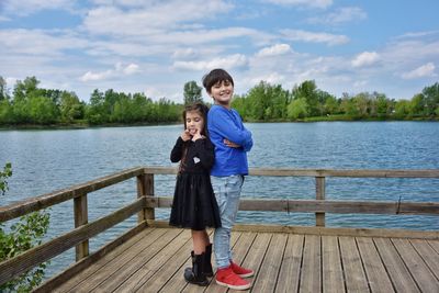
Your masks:
[[[211,176],[212,188],[219,207],[222,227],[215,229],[214,251],[216,268],[224,269],[230,266],[230,232],[235,224],[239,207],[239,195],[244,183],[244,176],[229,177]]]

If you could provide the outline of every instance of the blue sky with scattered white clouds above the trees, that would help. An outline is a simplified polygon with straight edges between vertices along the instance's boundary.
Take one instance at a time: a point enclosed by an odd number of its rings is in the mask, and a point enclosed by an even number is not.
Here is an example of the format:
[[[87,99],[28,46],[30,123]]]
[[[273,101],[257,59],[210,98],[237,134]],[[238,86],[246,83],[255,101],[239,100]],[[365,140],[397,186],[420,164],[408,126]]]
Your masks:
[[[437,0],[0,0],[0,76],[85,101],[112,88],[182,102],[187,81],[221,67],[239,94],[315,80],[337,97],[412,99],[439,80],[438,11]]]

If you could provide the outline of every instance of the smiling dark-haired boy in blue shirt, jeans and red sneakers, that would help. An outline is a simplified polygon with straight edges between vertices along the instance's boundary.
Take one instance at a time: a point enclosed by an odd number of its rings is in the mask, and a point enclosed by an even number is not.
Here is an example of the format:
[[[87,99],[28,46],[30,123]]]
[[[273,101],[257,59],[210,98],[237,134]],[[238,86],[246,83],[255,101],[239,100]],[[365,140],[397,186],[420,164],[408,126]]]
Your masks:
[[[214,100],[207,114],[207,129],[215,146],[211,182],[222,222],[222,227],[216,228],[214,234],[216,283],[234,290],[246,290],[251,284],[241,278],[254,275],[254,271],[233,262],[230,230],[238,213],[244,176],[248,174],[247,151],[252,146],[251,133],[244,127],[238,112],[230,106],[234,81],[227,71],[212,70],[203,77],[203,86]]]

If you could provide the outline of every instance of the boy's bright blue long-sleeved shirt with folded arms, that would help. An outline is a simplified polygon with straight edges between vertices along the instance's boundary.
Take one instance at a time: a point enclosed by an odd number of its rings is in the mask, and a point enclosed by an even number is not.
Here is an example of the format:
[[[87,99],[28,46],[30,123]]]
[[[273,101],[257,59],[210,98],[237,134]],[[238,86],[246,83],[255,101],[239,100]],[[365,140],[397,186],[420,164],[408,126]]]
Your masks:
[[[251,133],[244,127],[238,112],[212,105],[207,114],[207,129],[215,146],[215,164],[211,174],[217,177],[248,174],[247,151],[251,149],[254,142]],[[240,147],[226,146],[225,138]]]

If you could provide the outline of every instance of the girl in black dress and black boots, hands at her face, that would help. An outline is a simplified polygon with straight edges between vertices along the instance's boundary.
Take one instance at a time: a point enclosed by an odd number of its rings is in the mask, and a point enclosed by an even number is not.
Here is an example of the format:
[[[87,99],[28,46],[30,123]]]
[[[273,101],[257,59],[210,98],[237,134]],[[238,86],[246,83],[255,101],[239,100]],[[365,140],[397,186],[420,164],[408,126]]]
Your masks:
[[[202,103],[185,106],[184,131],[171,151],[171,161],[180,161],[169,224],[192,230],[192,268],[187,268],[189,283],[207,285],[212,277],[212,245],[206,227],[221,227],[218,205],[212,190],[210,171],[214,147],[207,136],[207,111]]]

